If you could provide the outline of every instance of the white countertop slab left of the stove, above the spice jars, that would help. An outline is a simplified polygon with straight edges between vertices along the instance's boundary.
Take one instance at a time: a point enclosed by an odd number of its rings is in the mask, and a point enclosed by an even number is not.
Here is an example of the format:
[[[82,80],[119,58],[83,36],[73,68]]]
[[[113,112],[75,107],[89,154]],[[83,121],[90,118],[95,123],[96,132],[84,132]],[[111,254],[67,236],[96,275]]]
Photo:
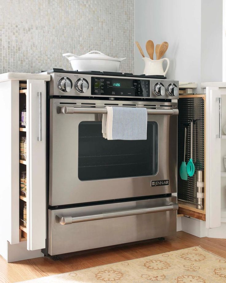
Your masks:
[[[26,80],[45,80],[50,81],[49,74],[29,74],[29,73],[5,73],[0,74],[0,82],[10,80],[26,81]]]

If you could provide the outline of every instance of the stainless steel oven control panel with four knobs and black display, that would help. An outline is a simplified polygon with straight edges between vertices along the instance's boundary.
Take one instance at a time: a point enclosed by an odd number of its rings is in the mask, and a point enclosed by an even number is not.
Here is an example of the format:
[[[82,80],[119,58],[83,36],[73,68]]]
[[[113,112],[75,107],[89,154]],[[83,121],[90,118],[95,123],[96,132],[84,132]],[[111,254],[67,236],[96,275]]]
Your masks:
[[[178,99],[179,82],[146,77],[50,73],[49,95]]]

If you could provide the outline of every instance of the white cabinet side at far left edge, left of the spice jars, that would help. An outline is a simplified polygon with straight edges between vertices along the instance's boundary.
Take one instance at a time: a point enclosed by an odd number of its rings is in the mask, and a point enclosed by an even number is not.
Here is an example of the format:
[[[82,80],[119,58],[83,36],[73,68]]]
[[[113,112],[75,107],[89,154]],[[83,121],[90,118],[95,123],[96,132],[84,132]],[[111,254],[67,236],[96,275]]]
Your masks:
[[[0,95],[0,253],[6,257],[7,241],[19,243],[19,81],[1,82]]]

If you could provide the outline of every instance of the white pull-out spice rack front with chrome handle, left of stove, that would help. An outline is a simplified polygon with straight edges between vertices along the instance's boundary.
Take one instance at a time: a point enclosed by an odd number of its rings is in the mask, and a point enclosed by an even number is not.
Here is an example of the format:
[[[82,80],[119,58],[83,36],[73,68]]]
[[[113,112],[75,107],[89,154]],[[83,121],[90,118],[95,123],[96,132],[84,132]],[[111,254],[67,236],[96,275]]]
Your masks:
[[[45,248],[46,87],[27,80],[27,249]]]

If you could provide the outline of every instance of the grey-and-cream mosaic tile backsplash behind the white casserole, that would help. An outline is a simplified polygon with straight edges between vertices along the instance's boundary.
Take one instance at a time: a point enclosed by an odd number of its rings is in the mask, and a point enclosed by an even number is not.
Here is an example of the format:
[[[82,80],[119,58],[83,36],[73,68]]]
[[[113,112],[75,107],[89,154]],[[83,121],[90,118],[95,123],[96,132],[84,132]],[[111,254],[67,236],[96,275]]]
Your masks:
[[[72,70],[62,54],[92,50],[133,72],[134,0],[0,0],[0,73]]]

